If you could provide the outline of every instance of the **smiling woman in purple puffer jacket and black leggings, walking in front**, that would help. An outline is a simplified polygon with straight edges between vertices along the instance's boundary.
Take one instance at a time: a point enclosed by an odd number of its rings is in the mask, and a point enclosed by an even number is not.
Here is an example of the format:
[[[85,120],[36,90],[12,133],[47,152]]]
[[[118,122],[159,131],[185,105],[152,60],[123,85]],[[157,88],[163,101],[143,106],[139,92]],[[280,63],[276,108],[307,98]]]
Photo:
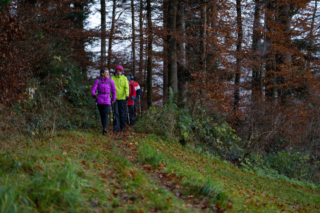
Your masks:
[[[96,94],[97,89],[98,94]],[[110,93],[112,94],[112,102],[114,102],[116,100],[115,82],[110,79],[108,68],[102,68],[100,70],[99,78],[94,82],[92,86],[91,95],[96,99],[97,102],[101,117],[103,135],[107,134],[108,114],[111,106]]]

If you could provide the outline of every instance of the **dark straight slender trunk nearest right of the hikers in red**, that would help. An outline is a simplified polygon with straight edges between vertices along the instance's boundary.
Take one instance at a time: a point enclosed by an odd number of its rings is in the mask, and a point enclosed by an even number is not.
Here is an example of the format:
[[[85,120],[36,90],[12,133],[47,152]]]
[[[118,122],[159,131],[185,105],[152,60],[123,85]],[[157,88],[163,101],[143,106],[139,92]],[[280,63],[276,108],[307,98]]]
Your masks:
[[[147,107],[152,106],[152,22],[151,22],[151,0],[147,0],[148,19],[148,59],[147,59]]]

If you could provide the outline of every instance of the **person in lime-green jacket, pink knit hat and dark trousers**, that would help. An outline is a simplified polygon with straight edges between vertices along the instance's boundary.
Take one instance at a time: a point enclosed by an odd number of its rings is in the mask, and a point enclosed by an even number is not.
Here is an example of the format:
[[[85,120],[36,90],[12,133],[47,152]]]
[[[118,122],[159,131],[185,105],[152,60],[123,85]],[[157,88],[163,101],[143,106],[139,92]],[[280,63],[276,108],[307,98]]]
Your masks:
[[[129,84],[127,77],[123,74],[123,67],[121,65],[116,66],[116,73],[111,79],[116,85],[116,101],[113,102],[115,119],[113,121],[113,132],[118,133],[120,129],[124,131],[126,105],[129,98]]]

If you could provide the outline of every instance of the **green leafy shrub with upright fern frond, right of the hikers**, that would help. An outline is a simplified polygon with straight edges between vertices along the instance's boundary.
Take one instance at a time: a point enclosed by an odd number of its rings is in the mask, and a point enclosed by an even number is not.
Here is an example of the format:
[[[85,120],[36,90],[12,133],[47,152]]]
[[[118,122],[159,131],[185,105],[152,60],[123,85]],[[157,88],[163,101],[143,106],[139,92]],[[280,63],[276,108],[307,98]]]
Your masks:
[[[155,133],[166,140],[180,143],[205,144],[215,155],[235,160],[244,155],[248,146],[236,136],[235,131],[225,121],[215,121],[209,117],[192,119],[188,109],[179,109],[173,103],[172,89],[169,90],[168,104],[163,108],[151,107],[136,124],[136,130]]]

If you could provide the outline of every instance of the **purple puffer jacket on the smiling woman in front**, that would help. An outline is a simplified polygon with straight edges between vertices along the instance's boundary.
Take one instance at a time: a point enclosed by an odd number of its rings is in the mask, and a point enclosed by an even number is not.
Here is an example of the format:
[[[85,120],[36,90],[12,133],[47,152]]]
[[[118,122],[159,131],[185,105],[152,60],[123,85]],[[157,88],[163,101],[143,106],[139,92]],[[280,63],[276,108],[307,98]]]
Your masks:
[[[102,78],[101,76],[99,76],[99,78],[94,82],[94,84],[92,86],[92,90],[91,90],[92,96],[96,94],[99,80],[100,80],[100,86],[98,88],[97,103],[111,106],[110,91],[112,94],[112,102],[114,102],[116,100],[115,82],[112,79],[110,79],[110,77]],[[109,86],[109,83],[110,83],[111,88]]]

